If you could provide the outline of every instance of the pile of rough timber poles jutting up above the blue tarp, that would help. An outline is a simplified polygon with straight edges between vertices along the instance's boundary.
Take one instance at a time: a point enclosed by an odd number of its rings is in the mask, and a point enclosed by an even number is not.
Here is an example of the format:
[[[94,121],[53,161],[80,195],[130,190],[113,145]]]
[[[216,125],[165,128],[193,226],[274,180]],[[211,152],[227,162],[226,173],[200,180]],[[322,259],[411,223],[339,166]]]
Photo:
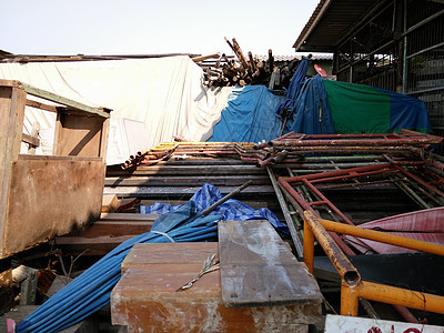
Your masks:
[[[225,37],[226,43],[233,50],[238,60],[229,59],[224,53],[219,56],[215,64],[205,69],[204,84],[208,87],[232,87],[232,85],[252,85],[265,84],[270,88],[287,87],[292,72],[296,68],[296,59],[290,64],[275,67],[273,52],[269,50],[269,59],[254,59],[251,51],[248,57],[242,52],[235,38],[230,41]],[[280,73],[276,75],[276,73]]]

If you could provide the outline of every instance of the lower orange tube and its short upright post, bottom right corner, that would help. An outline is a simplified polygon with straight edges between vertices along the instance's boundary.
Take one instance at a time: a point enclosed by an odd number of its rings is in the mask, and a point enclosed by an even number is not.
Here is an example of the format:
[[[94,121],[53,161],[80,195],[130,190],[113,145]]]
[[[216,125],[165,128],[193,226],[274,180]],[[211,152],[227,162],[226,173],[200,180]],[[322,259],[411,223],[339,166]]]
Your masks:
[[[361,281],[357,285],[350,286],[346,283],[341,285],[341,314],[357,315],[357,299],[363,297],[382,303],[395,304],[444,313],[444,297],[423,292],[405,290],[402,287]]]

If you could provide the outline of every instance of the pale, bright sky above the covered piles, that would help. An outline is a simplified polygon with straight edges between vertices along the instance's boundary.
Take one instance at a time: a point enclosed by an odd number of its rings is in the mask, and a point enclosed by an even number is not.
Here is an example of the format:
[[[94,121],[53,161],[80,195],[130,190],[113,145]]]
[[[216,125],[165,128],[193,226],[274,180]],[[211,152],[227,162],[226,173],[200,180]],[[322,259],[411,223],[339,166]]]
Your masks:
[[[319,0],[3,1],[0,49],[16,54],[292,56]]]

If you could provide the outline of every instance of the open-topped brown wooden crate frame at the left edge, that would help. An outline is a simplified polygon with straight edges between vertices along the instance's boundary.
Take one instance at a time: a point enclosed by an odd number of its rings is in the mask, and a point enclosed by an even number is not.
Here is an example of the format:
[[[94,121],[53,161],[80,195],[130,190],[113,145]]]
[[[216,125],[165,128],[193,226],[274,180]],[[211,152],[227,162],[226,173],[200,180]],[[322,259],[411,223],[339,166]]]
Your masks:
[[[57,112],[53,155],[20,154],[38,142],[22,134],[26,105]],[[100,218],[109,112],[0,80],[0,258]]]

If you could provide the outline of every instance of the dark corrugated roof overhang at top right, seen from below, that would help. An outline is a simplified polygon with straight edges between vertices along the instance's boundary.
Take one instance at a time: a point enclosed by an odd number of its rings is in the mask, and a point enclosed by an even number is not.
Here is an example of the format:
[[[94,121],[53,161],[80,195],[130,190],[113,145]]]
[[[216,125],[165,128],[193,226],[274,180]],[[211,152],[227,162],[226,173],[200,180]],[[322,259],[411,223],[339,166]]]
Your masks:
[[[304,52],[333,52],[352,27],[386,0],[321,0],[293,48]]]

